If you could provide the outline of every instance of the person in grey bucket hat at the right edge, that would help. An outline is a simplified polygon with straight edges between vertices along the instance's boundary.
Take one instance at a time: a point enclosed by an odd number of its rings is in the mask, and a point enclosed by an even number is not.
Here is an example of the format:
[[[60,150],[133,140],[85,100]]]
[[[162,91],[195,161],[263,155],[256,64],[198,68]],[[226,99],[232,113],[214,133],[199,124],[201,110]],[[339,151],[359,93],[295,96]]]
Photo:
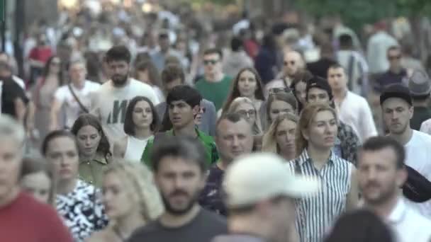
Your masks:
[[[431,79],[425,71],[415,70],[408,80],[408,88],[413,99],[413,117],[410,120],[410,127],[419,130],[422,122],[431,118],[431,108],[428,106]]]

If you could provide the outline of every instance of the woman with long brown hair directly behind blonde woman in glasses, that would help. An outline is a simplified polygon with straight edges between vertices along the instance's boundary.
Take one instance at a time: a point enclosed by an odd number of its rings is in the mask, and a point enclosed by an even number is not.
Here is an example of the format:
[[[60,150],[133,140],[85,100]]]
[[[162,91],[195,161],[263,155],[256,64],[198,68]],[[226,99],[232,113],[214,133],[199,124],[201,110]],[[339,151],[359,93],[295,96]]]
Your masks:
[[[235,98],[245,97],[252,100],[256,110],[260,110],[264,102],[264,93],[260,76],[254,68],[244,68],[233,80],[228,98],[223,105],[222,113],[226,113]]]

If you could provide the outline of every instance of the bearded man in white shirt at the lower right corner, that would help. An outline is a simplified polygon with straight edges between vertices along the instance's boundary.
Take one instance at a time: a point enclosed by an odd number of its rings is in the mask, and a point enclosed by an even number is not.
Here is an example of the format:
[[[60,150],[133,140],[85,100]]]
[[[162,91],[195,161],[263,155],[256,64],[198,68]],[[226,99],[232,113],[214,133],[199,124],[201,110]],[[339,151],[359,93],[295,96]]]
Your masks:
[[[403,146],[392,137],[371,137],[364,142],[357,169],[364,207],[391,226],[396,241],[430,241],[431,221],[410,208],[398,192],[407,179],[404,160]]]

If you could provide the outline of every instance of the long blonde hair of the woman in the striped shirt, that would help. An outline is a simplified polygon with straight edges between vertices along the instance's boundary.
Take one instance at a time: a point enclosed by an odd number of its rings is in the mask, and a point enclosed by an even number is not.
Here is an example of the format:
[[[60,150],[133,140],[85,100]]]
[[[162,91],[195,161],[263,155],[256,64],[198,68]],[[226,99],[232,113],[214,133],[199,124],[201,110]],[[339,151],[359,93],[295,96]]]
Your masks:
[[[301,111],[301,116],[299,116],[298,121],[298,127],[296,128],[296,156],[300,156],[302,151],[308,146],[308,140],[304,137],[303,132],[308,130],[315,116],[322,111],[330,111],[332,115],[334,115],[335,120],[337,120],[337,113],[335,113],[335,110],[329,105],[321,103],[311,103],[306,105],[306,107]]]

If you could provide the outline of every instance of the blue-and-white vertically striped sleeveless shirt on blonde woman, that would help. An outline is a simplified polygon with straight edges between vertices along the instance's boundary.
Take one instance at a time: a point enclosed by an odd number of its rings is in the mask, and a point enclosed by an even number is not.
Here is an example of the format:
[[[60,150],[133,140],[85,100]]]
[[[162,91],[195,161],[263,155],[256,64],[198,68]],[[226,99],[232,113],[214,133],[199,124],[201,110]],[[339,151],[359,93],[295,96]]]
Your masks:
[[[296,202],[296,225],[301,241],[320,242],[337,217],[345,212],[353,165],[331,152],[328,162],[319,171],[304,149],[288,166],[292,172],[320,180],[318,194]]]

